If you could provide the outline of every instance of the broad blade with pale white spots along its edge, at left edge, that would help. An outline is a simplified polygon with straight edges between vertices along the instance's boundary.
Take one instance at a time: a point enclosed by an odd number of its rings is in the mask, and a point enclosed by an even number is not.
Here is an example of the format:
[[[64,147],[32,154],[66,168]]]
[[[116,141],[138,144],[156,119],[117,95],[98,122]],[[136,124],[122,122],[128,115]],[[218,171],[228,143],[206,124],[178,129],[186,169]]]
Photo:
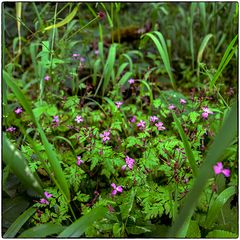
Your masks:
[[[40,180],[31,172],[21,153],[7,139],[5,134],[3,135],[3,161],[10,166],[23,184],[43,195]]]

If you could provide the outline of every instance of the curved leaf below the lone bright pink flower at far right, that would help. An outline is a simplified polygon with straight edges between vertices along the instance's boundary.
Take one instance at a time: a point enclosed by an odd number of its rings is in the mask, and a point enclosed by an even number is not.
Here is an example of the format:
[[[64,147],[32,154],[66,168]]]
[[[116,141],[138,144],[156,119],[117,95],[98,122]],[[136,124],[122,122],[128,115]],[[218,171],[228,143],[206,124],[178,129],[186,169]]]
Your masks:
[[[219,216],[219,213],[221,209],[223,208],[224,204],[229,200],[230,197],[232,197],[236,193],[236,188],[235,187],[229,187],[222,191],[217,199],[212,203],[208,215],[206,218],[205,225],[206,227],[211,227],[217,217]]]

